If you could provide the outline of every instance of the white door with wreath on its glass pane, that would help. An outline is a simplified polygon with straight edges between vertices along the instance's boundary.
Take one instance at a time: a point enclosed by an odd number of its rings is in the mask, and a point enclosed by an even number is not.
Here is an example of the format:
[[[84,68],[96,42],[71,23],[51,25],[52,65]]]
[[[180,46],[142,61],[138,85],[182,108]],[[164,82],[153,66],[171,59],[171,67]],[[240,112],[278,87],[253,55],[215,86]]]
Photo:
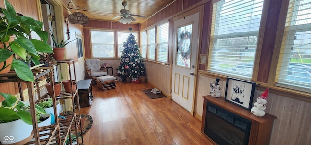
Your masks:
[[[199,13],[174,21],[172,99],[191,113],[194,97]]]

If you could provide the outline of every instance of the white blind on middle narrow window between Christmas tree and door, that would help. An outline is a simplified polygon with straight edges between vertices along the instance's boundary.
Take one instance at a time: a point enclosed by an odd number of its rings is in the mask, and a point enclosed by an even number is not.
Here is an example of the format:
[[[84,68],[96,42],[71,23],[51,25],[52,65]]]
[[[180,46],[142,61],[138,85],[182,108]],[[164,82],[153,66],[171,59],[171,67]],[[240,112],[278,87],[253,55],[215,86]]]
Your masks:
[[[150,60],[155,60],[155,28],[147,30],[147,58]]]

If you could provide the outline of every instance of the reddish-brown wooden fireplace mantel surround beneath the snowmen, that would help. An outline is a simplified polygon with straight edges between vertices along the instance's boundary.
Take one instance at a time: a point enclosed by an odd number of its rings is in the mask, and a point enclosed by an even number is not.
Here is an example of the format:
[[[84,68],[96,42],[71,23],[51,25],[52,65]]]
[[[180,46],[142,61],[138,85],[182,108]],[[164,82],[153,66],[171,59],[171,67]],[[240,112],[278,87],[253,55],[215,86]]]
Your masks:
[[[266,113],[263,117],[255,116],[249,110],[225,101],[224,97],[202,96],[204,98],[201,132],[204,133],[206,123],[207,102],[234,113],[252,122],[248,145],[269,145],[273,122],[276,116]],[[207,135],[206,135],[207,136]],[[208,136],[207,136],[208,137]]]

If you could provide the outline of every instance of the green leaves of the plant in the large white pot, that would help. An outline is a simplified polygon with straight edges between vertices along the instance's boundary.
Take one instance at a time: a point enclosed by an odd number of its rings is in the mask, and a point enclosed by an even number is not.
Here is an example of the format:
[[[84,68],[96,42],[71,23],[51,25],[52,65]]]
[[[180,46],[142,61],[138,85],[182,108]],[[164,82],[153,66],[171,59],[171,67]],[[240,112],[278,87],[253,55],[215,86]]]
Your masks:
[[[27,112],[27,109],[30,109],[30,106],[23,102],[17,101],[17,98],[11,94],[0,93],[1,96],[4,97],[4,101],[2,101],[2,106],[0,107],[0,123],[6,123],[21,119],[27,124],[32,124],[31,115]],[[38,114],[46,114],[45,110],[35,105],[35,109]]]

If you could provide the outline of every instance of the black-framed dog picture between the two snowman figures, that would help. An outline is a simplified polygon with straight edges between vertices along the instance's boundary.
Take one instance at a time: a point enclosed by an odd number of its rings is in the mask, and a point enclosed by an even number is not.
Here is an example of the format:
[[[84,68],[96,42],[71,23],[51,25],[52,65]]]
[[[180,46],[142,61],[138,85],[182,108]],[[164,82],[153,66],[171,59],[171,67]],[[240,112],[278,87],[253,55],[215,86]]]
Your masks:
[[[251,110],[255,92],[255,82],[235,78],[227,78],[225,101]]]

